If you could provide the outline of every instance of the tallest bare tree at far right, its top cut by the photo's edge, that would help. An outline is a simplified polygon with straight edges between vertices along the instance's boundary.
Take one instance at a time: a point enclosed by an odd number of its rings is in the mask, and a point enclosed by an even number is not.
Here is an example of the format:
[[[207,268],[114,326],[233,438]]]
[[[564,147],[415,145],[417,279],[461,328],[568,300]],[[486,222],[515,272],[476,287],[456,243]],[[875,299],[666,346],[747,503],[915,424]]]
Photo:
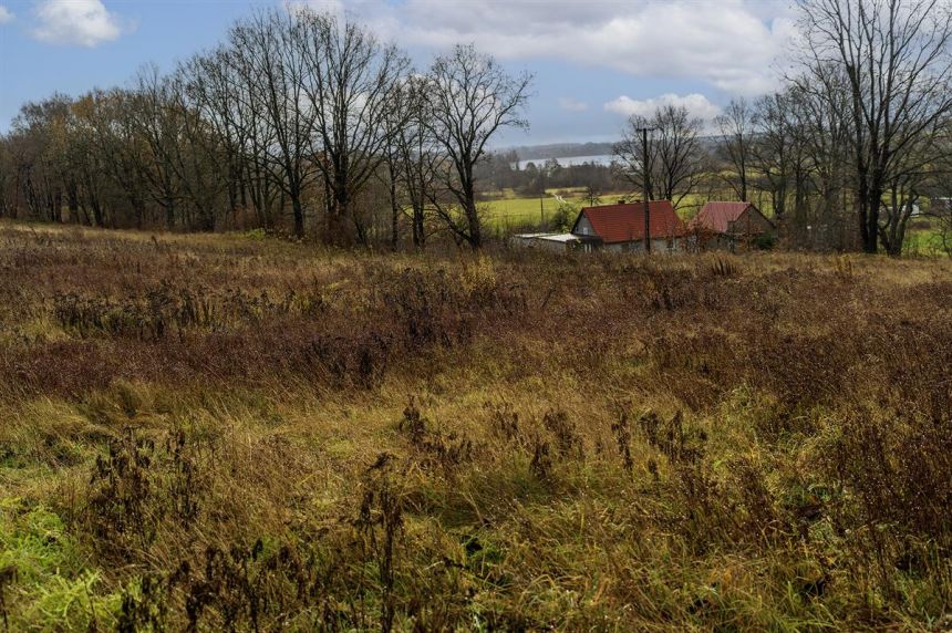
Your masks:
[[[857,216],[876,252],[880,211],[910,146],[952,108],[952,11],[943,0],[800,0],[807,72],[844,69]]]

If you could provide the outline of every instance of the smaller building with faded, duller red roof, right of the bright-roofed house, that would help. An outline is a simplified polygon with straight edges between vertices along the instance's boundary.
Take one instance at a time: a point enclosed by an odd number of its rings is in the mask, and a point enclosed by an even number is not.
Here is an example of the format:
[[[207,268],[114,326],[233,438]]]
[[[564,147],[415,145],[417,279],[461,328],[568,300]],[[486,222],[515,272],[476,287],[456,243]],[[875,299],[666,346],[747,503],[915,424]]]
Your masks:
[[[707,203],[687,225],[699,249],[734,250],[763,235],[773,235],[774,222],[752,203]]]

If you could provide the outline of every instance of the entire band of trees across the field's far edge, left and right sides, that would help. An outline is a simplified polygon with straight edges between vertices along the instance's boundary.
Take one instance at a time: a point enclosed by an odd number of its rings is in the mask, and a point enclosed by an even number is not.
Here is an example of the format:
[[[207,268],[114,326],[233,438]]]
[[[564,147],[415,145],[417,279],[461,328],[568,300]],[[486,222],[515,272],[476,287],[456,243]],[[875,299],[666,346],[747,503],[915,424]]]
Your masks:
[[[756,201],[791,246],[898,255],[917,210],[952,198],[950,3],[798,4],[782,87],[732,101],[713,139],[669,105],[628,121],[613,167],[525,169],[487,147],[528,125],[530,75],[473,45],[415,69],[359,23],[257,11],[170,73],[24,105],[0,137],[0,216],[392,248],[443,234],[478,248],[487,188],[582,186],[589,200],[627,188],[675,207]],[[949,205],[930,210],[952,235]]]

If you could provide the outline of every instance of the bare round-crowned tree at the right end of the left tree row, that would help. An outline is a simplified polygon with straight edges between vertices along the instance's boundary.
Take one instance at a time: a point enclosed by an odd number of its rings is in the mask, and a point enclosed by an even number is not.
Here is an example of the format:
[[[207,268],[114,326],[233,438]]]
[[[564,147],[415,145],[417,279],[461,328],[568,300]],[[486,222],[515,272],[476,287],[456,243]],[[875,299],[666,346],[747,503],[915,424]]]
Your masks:
[[[435,196],[432,203],[453,235],[473,248],[483,246],[474,168],[500,128],[528,128],[522,111],[531,80],[528,73],[510,76],[472,44],[436,58],[430,69],[424,123],[446,154],[445,185],[462,209],[462,221]]]

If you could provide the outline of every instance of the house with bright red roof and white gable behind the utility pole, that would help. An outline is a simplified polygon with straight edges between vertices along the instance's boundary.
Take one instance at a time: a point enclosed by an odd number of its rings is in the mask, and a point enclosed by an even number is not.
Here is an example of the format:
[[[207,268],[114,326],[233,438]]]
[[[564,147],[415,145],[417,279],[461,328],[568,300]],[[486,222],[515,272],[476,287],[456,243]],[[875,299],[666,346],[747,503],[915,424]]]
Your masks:
[[[652,251],[681,250],[685,227],[670,200],[651,200],[648,219]],[[644,248],[644,203],[620,200],[617,205],[584,207],[571,235],[583,250],[640,251]]]

